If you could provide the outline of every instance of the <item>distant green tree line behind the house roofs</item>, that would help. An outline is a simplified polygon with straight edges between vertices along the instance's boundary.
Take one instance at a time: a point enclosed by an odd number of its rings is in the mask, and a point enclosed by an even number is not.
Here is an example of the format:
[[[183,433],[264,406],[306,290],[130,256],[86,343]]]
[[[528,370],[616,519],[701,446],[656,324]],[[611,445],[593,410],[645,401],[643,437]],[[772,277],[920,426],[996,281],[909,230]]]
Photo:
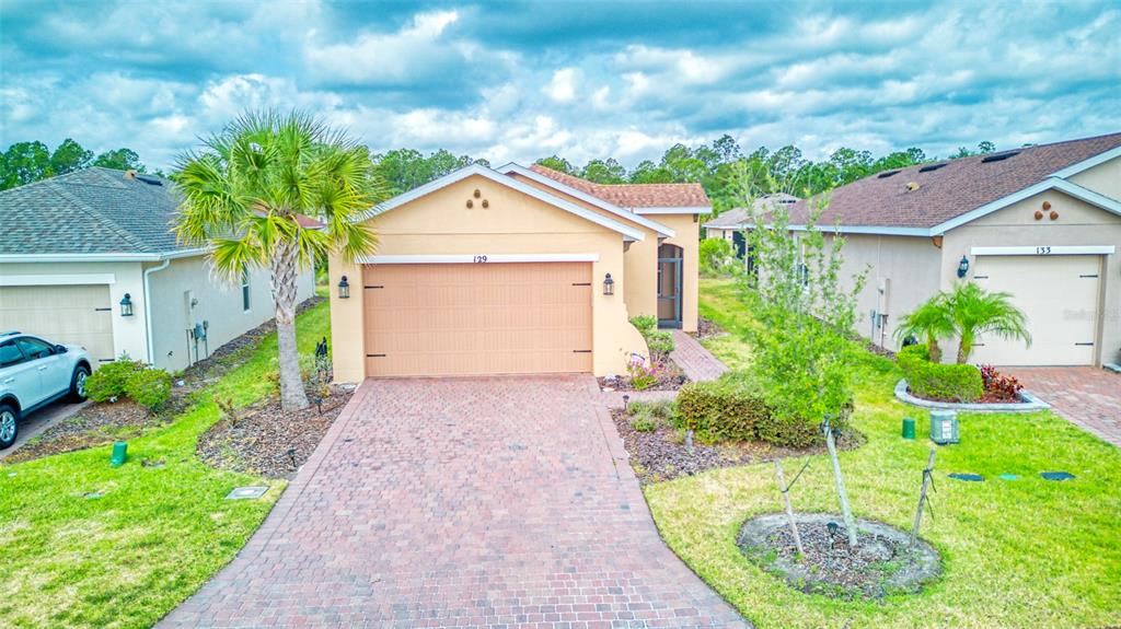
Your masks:
[[[990,153],[997,149],[992,142],[981,142],[976,149],[962,147],[948,159]],[[464,166],[481,163],[485,159],[467,154],[456,156],[446,149],[427,156],[415,149],[396,149],[371,153],[377,175],[391,194],[401,194],[443,177]],[[911,147],[876,157],[871,151],[840,148],[828,158],[814,161],[802,150],[788,144],[777,150],[759,147],[748,153],[731,135],[722,135],[710,144],[686,147],[675,144],[658,161],[643,160],[628,169],[614,158],[592,159],[576,166],[553,154],[537,163],[597,184],[683,184],[697,182],[720,213],[735,205],[740,196],[736,186],[747,182],[756,194],[787,191],[807,197],[883,170],[906,168],[937,161],[921,149]],[[105,151],[96,157],[72,139],[66,139],[54,151],[43,142],[18,142],[0,156],[0,189],[30,184],[47,177],[65,175],[90,166],[119,170],[133,169],[145,172],[145,165],[131,149]],[[160,173],[159,171],[156,171]]]

